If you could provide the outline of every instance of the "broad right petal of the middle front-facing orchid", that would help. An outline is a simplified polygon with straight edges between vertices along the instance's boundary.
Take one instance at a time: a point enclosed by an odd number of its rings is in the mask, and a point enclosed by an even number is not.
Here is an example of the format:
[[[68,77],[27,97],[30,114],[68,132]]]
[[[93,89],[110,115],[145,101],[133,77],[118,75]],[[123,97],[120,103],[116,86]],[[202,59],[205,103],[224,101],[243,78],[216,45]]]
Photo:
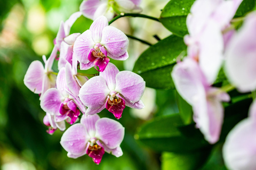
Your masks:
[[[122,94],[130,103],[136,103],[145,91],[145,84],[140,75],[131,71],[121,71],[116,74],[115,91]]]

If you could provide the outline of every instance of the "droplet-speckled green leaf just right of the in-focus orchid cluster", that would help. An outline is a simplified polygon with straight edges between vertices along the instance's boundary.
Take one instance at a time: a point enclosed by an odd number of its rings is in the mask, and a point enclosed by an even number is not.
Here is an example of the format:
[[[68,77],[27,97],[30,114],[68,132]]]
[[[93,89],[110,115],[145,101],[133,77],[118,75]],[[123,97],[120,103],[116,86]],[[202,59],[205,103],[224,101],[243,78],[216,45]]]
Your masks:
[[[183,39],[171,35],[143,52],[134,65],[133,72],[140,74],[146,86],[156,89],[174,88],[171,71],[176,58],[187,46]]]

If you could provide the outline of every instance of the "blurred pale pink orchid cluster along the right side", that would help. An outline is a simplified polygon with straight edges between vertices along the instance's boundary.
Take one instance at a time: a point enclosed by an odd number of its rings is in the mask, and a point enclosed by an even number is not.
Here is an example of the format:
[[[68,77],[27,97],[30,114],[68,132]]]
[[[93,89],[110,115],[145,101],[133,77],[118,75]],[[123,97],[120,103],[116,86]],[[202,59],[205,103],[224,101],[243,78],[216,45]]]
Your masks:
[[[236,30],[232,19],[241,2],[195,1],[186,20],[187,57],[172,71],[175,88],[193,107],[196,127],[211,144],[220,138],[221,102],[230,100],[226,91],[213,86],[223,61],[228,80],[240,92],[256,89],[256,13],[247,14]],[[231,130],[223,146],[223,158],[230,169],[256,168],[255,108],[254,102],[249,117]]]

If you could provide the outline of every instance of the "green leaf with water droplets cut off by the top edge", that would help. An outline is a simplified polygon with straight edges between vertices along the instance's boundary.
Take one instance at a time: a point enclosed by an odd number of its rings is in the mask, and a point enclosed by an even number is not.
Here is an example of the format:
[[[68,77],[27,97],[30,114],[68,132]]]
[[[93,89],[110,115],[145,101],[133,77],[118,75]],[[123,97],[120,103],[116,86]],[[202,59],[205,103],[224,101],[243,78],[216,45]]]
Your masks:
[[[159,18],[165,28],[174,35],[183,37],[188,33],[187,15],[195,0],[171,0],[163,9]]]

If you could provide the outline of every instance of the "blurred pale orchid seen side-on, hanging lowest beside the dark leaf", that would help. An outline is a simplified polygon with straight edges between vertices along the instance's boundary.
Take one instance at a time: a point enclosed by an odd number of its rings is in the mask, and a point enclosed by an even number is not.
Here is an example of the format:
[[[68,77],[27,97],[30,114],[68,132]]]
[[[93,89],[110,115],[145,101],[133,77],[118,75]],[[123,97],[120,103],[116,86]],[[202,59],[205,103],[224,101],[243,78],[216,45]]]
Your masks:
[[[194,121],[204,138],[209,143],[217,142],[223,123],[221,101],[229,101],[228,94],[211,87],[197,62],[191,58],[174,66],[172,78],[181,97],[193,107]]]

